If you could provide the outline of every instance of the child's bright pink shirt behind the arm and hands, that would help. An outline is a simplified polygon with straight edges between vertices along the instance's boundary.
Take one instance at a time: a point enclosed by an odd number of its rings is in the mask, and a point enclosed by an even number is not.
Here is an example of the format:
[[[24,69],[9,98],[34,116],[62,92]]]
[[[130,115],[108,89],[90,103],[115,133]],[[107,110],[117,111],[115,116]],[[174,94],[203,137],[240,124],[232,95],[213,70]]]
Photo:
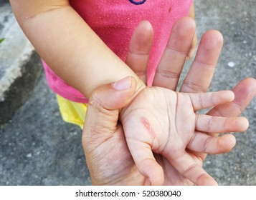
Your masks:
[[[148,85],[151,85],[158,62],[177,19],[189,14],[192,0],[70,0],[71,6],[98,36],[125,61],[133,29],[148,20],[154,30],[154,41],[148,63]],[[79,91],[60,79],[44,63],[51,89],[70,101],[87,103]],[[108,69],[106,69],[108,70]]]

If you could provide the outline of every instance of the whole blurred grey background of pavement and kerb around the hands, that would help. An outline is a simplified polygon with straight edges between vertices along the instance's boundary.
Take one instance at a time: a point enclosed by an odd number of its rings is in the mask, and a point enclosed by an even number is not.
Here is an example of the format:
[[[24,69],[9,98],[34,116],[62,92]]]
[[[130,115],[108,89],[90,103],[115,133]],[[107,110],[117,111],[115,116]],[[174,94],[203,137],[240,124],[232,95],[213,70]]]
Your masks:
[[[256,78],[255,0],[194,0],[197,35],[224,36],[210,91]],[[186,63],[184,74],[191,61]],[[256,185],[256,99],[243,112],[250,121],[234,134],[229,154],[208,156],[204,168],[220,185]],[[62,121],[39,56],[22,34],[9,1],[0,0],[0,185],[90,185],[81,130]]]

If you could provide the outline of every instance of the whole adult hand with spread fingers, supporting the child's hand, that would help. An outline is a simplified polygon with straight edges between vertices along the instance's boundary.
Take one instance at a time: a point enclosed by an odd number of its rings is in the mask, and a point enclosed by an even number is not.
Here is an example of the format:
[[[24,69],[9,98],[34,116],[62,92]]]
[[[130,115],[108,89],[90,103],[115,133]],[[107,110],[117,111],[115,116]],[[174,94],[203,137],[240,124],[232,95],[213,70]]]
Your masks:
[[[136,33],[140,33],[140,27],[144,26],[147,27],[147,30],[149,30],[145,31],[145,29],[143,29],[144,33],[148,33],[148,35],[144,37],[144,41],[147,41],[148,38],[150,40],[152,36],[152,32],[150,31],[151,26],[145,26],[145,24],[143,25],[143,23],[141,24],[141,26],[138,26],[138,29],[136,29],[135,34],[133,35],[133,40],[131,41],[130,48],[131,51],[128,55],[128,63],[130,63],[129,65],[132,66],[134,71],[139,71],[138,74],[140,74],[142,77],[144,76],[145,79],[146,61],[148,58],[150,45],[146,47],[140,45],[143,44],[143,41],[138,40],[137,46],[135,46],[136,48],[134,48],[133,46],[133,41],[136,41]],[[159,64],[158,71],[156,72],[156,79],[154,81],[155,85],[159,82],[160,84],[164,84],[162,86],[166,88],[176,88],[177,81],[179,80],[179,74],[186,59],[185,47],[189,46],[189,42],[191,43],[188,38],[193,38],[192,35],[186,37],[186,33],[188,31],[190,33],[191,29],[194,29],[194,24],[191,23],[191,21],[189,22],[189,19],[181,19],[174,26],[169,45],[165,51],[165,54],[163,54],[163,58],[166,59],[161,60],[162,64]],[[222,44],[222,41],[212,44],[212,41],[214,41],[212,39],[217,39],[217,35],[219,36],[217,32],[210,31],[203,36],[201,44],[199,46],[199,51],[196,54],[194,64],[191,66],[191,70],[186,76],[183,86],[181,86],[182,90],[207,90],[210,80],[212,79],[212,74],[214,71],[214,66],[217,62],[217,57],[219,56],[219,51],[221,49],[221,45],[219,44]],[[182,43],[179,41],[182,41]],[[217,41],[219,40],[217,39]],[[150,44],[150,42],[148,42],[148,44]],[[211,47],[211,44],[212,47],[215,48],[207,48],[207,46],[209,45]],[[208,51],[205,53],[205,50]],[[134,59],[134,56],[136,57],[136,59]],[[210,59],[207,59],[207,56],[209,56]],[[164,66],[165,62],[167,64],[169,63],[170,58],[174,58],[171,59],[170,63],[172,64],[173,62],[174,66],[177,66],[176,68],[171,70],[169,69],[169,67],[166,68]],[[209,62],[203,62],[204,59]],[[137,70],[136,67],[134,68],[134,66],[138,66],[136,65],[136,63],[140,63],[140,66],[145,67],[143,67],[143,69],[138,67]],[[198,70],[199,68],[200,70]],[[196,76],[194,76],[194,74],[196,74]],[[200,76],[202,74],[204,74],[204,76]],[[163,81],[160,81],[161,76],[164,78],[162,79]],[[203,79],[197,79],[196,77]],[[204,79],[204,77],[206,78]],[[207,77],[209,79],[207,79]],[[138,173],[138,169],[133,163],[131,154],[126,146],[122,126],[117,123],[118,109],[125,106],[125,104],[128,104],[127,99],[129,99],[129,96],[131,98],[134,84],[134,80],[130,79],[130,87],[128,87],[128,89],[126,90],[121,91],[114,89],[114,87],[118,85],[118,88],[121,89],[122,87],[120,87],[120,85],[122,84],[120,83],[104,86],[103,88],[96,90],[90,100],[91,105],[89,106],[87,111],[87,116],[90,117],[87,117],[85,121],[85,129],[83,131],[82,142],[84,145],[87,165],[90,170],[93,184],[148,184],[146,182],[146,179]],[[226,106],[224,106],[224,108],[220,108],[221,111],[224,111],[223,115],[225,113],[229,113],[230,115],[232,115],[233,109],[231,109],[231,107],[240,107],[244,109],[247,104],[250,103],[250,100],[253,98],[253,96],[255,96],[255,93],[253,93],[252,91],[255,91],[254,79],[246,79],[245,81],[242,81],[239,85],[237,85],[237,87],[234,89],[234,93],[243,95],[243,97],[245,97],[245,100],[240,101],[242,99],[240,98],[236,101],[235,99],[234,103],[228,103]],[[117,95],[119,93],[122,95]],[[109,99],[109,95],[113,96],[113,98]],[[124,99],[126,99],[126,101]],[[217,115],[217,113],[220,113],[219,109],[214,108],[212,110],[212,114]],[[238,114],[238,112],[236,114]],[[100,124],[98,123],[98,121],[100,121]],[[227,150],[230,149],[223,149],[223,151]],[[167,173],[165,174],[166,181],[164,182],[164,184],[191,184],[191,182],[187,179],[184,179],[184,177],[181,176],[181,174],[179,174],[169,164],[169,162],[166,161],[164,157],[159,156],[158,154],[156,154],[155,156],[158,163],[161,164],[161,166],[163,167],[163,170],[167,171]],[[202,164],[202,160],[200,159],[200,157],[195,156],[195,158],[196,161],[199,162],[199,164]]]

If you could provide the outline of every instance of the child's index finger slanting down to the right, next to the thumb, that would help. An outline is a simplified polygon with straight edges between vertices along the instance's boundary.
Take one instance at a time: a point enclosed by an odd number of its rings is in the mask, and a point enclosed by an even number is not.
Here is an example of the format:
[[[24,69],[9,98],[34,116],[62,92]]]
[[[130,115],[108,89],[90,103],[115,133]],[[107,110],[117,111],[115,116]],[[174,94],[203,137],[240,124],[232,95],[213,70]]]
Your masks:
[[[171,154],[171,152],[170,152]],[[214,186],[217,182],[207,174],[202,166],[196,164],[196,161],[184,151],[184,153],[172,156],[169,160],[174,168],[183,176],[199,186]]]

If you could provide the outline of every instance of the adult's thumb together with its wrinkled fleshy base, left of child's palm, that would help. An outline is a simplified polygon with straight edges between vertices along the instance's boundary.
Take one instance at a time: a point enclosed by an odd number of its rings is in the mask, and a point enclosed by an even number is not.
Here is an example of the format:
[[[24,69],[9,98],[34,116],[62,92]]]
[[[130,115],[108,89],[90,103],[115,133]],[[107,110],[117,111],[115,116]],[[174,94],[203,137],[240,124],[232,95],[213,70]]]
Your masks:
[[[82,145],[93,185],[144,185],[118,122],[119,110],[136,91],[136,81],[127,77],[100,86],[90,96]]]

